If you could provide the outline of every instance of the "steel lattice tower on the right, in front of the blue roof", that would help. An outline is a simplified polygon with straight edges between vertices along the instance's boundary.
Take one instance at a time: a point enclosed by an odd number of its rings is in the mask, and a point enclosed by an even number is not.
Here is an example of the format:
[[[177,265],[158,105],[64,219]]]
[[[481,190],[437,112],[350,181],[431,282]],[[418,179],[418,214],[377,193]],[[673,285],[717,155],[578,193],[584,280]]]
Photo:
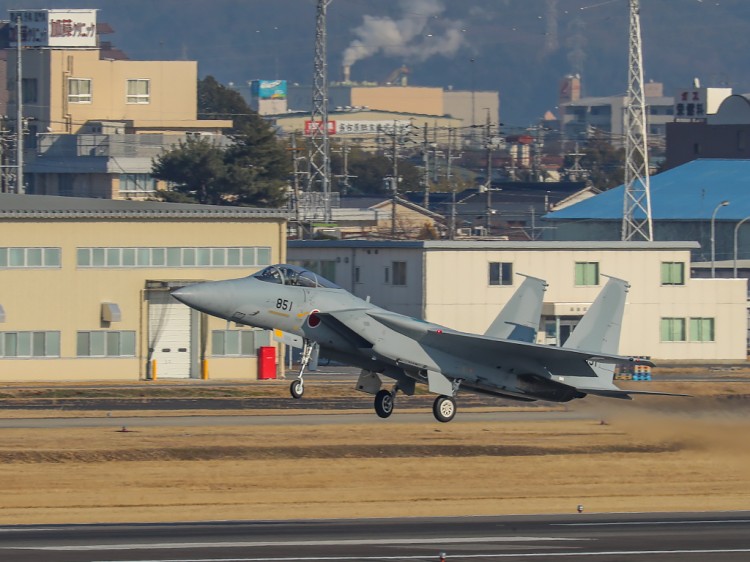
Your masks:
[[[630,0],[628,93],[625,104],[625,196],[622,240],[653,241],[648,176],[646,98],[643,93],[643,48],[640,0]]]

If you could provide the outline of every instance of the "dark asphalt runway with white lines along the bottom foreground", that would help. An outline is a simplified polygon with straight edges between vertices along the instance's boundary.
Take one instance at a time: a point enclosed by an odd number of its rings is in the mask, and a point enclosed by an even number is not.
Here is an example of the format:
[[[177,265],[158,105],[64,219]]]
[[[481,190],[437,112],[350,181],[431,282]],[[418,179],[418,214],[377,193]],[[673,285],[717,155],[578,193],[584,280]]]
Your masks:
[[[0,527],[14,562],[747,560],[750,512]]]

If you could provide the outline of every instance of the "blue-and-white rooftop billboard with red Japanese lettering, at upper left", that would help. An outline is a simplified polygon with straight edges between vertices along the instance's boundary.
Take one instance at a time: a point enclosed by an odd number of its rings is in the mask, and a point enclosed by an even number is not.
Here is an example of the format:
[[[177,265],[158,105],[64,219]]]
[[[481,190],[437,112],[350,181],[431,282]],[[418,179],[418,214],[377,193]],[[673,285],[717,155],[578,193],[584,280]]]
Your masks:
[[[96,10],[10,10],[12,47],[19,17],[24,47],[96,47]]]

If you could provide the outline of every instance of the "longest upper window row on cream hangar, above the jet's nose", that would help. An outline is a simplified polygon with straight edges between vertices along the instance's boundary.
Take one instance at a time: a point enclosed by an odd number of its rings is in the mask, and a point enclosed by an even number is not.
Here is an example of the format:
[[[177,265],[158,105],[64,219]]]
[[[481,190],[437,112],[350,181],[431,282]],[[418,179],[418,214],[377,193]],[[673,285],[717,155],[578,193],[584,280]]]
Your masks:
[[[254,267],[269,265],[271,249],[267,247],[183,248],[179,246],[169,248],[78,248],[76,256],[76,262],[80,268]],[[0,254],[1,257],[2,254]],[[0,263],[2,262],[0,261]]]

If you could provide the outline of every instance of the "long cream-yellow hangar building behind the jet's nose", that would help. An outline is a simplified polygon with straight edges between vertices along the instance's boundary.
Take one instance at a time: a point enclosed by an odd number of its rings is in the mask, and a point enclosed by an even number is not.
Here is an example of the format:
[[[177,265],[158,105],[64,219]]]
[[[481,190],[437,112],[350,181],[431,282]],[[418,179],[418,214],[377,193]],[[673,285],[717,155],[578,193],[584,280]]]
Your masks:
[[[0,380],[256,378],[270,334],[194,312],[169,290],[285,261],[286,219],[0,194]]]

